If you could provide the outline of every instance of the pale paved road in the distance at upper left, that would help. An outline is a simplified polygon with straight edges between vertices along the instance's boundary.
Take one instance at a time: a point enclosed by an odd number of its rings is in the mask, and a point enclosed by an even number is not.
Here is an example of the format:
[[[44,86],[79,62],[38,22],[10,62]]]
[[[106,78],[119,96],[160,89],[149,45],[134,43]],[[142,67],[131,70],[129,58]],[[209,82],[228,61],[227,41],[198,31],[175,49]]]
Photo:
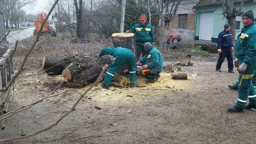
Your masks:
[[[10,31],[7,35],[7,41],[10,43],[15,43],[16,40],[23,40],[29,38],[33,35],[35,27],[30,27],[27,29],[17,30],[17,31]]]

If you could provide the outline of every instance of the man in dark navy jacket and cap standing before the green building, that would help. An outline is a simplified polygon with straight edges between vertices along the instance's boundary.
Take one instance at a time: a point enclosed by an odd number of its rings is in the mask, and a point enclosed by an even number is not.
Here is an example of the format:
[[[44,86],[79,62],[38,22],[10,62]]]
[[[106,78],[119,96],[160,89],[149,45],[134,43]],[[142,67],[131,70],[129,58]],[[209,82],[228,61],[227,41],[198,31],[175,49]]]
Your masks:
[[[233,68],[233,56],[232,56],[232,52],[234,51],[234,47],[232,44],[232,34],[230,33],[230,26],[228,24],[226,24],[224,26],[224,30],[221,31],[218,35],[218,53],[219,53],[219,58],[218,58],[218,62],[216,65],[216,71],[221,72],[220,68],[221,65],[225,59],[225,57],[227,57],[228,59],[228,72],[229,73],[234,73]]]

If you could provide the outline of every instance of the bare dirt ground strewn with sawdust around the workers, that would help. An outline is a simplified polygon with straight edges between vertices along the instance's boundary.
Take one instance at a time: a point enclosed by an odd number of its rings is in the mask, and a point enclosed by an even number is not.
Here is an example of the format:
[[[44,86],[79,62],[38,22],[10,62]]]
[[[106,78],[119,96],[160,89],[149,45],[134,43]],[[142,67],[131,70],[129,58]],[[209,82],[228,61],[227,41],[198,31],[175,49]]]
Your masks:
[[[17,68],[26,49],[20,47],[17,52]],[[44,49],[40,54],[38,47],[34,51],[36,59],[50,53]],[[193,54],[194,66],[178,68],[188,74],[188,79],[171,78],[168,67],[186,62],[184,54],[189,51],[190,48],[177,47],[162,52],[165,70],[157,82],[146,83],[138,76],[136,83],[145,87],[106,90],[97,85],[76,111],[54,128],[8,143],[253,143],[256,112],[227,112],[237,100],[237,91],[230,90],[228,85],[238,76],[228,73],[227,61],[219,73],[215,71],[216,55]],[[10,110],[46,97],[61,81],[65,81],[61,76],[47,76],[40,61],[29,59],[27,69],[15,81]],[[87,88],[62,87],[56,93],[68,92],[7,118],[0,138],[28,135],[53,124]]]

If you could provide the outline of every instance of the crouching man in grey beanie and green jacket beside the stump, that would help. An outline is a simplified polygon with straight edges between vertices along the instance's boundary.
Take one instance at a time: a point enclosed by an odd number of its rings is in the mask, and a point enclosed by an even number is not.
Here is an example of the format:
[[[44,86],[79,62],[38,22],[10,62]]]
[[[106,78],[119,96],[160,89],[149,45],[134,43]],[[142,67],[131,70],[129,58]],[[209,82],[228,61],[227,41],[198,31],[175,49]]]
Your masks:
[[[142,65],[141,75],[145,76],[149,82],[156,82],[160,77],[159,73],[163,69],[162,55],[149,42],[144,44],[144,49],[146,50],[146,55],[136,65]]]

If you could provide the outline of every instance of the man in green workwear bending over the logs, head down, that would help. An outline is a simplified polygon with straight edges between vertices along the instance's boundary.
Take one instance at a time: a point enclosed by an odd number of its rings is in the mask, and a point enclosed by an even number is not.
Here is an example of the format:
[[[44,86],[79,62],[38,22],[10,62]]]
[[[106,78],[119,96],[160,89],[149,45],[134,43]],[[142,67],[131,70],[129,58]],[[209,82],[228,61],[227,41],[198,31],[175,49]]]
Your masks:
[[[135,76],[136,76],[136,65],[134,53],[123,47],[116,48],[104,48],[101,50],[99,56],[112,55],[114,61],[110,65],[109,69],[106,70],[106,74],[103,82],[101,83],[102,88],[109,89],[109,85],[115,76],[116,71],[121,67],[122,64],[127,63],[129,65],[130,71],[130,87],[135,86]]]

